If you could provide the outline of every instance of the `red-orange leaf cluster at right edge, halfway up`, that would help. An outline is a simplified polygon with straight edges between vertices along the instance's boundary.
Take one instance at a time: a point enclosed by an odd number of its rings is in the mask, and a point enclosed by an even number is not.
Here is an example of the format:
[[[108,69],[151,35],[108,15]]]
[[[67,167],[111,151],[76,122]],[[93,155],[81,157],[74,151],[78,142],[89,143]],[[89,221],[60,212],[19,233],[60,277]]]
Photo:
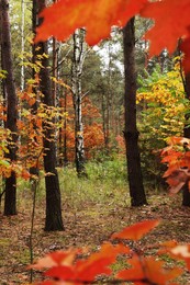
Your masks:
[[[161,151],[163,163],[167,163],[164,173],[169,191],[178,193],[188,183],[190,190],[190,139],[185,137],[168,138],[168,146]]]

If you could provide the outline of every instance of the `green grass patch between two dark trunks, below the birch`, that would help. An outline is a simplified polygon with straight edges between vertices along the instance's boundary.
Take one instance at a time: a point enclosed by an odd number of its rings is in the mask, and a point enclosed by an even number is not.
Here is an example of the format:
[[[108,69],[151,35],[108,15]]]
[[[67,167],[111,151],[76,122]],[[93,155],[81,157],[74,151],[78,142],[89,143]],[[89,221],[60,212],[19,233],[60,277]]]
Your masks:
[[[64,204],[72,208],[128,202],[128,187],[124,176],[123,161],[107,161],[105,164],[89,162],[86,164],[88,178],[78,178],[72,166],[59,169],[59,182]]]

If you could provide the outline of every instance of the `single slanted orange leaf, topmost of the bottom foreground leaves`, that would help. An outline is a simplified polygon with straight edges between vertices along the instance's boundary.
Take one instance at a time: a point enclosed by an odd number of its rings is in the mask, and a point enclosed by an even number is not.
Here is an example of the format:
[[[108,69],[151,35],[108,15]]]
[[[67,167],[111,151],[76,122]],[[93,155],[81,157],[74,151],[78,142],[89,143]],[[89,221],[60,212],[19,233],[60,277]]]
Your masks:
[[[159,220],[144,220],[141,223],[137,223],[133,226],[130,226],[122,230],[121,232],[113,233],[112,239],[132,239],[132,240],[138,240],[144,235],[146,235],[149,230],[154,229],[156,226],[158,226]]]

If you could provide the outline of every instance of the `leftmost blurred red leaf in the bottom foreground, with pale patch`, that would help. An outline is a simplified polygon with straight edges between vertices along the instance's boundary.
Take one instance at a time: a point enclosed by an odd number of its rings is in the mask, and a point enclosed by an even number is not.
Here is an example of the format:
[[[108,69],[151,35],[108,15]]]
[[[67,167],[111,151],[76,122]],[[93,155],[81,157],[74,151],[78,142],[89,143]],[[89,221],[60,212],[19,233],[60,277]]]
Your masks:
[[[115,262],[119,254],[126,254],[130,249],[123,244],[113,246],[110,242],[102,244],[99,252],[92,253],[88,259],[75,258],[78,251],[53,252],[41,259],[34,269],[51,267],[45,275],[67,282],[93,282],[97,275],[112,273],[109,266]],[[79,284],[79,283],[77,283]]]

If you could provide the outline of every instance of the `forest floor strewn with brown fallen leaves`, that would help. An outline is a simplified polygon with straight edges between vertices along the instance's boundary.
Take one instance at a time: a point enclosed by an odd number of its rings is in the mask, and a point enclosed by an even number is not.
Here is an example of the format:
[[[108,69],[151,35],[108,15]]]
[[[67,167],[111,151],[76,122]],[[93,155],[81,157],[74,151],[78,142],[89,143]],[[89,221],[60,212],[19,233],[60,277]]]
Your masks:
[[[30,283],[30,271],[26,267],[30,264],[31,197],[32,194],[29,192],[20,197],[16,216],[5,217],[0,213],[1,285]],[[107,200],[82,200],[82,203],[75,204],[74,207],[67,197],[63,204],[65,231],[45,232],[44,198],[38,198],[33,232],[34,260],[49,251],[65,250],[69,247],[89,246],[96,250],[111,233],[144,219],[160,218],[163,223],[142,240],[142,247],[171,239],[180,242],[190,241],[190,208],[180,206],[179,195],[149,195],[148,202],[147,206],[132,208],[119,200],[115,201],[113,194],[109,194]],[[38,277],[34,272],[33,281]],[[190,284],[190,278],[186,276],[181,284]]]

